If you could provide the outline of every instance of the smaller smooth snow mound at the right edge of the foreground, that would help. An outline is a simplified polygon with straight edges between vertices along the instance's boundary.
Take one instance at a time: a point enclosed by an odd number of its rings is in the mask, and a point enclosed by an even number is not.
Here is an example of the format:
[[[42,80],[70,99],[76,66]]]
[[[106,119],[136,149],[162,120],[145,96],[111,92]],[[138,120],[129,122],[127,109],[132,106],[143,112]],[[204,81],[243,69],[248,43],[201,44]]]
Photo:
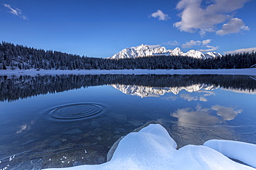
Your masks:
[[[228,158],[241,160],[256,167],[256,145],[230,140],[208,140],[203,145],[219,151]]]

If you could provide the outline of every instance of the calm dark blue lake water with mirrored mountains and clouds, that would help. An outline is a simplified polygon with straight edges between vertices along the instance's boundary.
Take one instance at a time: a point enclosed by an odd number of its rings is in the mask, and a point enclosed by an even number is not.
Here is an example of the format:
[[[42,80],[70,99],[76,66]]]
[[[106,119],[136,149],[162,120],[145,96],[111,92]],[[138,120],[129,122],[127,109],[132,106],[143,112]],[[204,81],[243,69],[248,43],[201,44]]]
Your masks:
[[[100,164],[155,120],[178,147],[256,143],[256,81],[218,75],[0,76],[0,169]]]

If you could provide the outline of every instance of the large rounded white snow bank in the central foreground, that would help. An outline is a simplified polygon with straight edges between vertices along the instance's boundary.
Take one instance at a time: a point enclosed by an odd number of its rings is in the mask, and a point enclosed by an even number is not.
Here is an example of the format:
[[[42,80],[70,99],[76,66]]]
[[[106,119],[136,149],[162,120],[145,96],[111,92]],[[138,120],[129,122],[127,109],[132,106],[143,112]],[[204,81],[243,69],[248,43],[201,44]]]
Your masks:
[[[242,145],[241,147],[244,147]],[[244,151],[242,151],[244,152]],[[239,153],[238,153],[239,154]],[[246,153],[245,153],[246,154]],[[109,162],[68,169],[254,169],[239,164],[206,146],[176,142],[161,125],[149,125],[122,138]]]

